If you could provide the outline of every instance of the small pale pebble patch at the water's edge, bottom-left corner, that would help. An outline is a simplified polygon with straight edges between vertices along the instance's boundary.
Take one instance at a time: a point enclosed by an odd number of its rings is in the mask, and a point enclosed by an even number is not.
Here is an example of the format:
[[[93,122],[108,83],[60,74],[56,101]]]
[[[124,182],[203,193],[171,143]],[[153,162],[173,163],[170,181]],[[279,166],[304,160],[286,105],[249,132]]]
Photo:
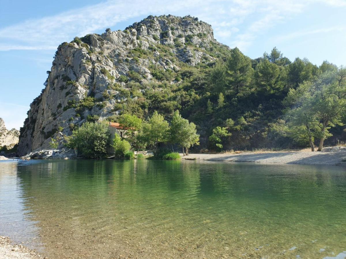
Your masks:
[[[42,257],[38,255],[34,250],[30,250],[22,244],[13,244],[8,237],[0,237],[0,258],[37,259]]]

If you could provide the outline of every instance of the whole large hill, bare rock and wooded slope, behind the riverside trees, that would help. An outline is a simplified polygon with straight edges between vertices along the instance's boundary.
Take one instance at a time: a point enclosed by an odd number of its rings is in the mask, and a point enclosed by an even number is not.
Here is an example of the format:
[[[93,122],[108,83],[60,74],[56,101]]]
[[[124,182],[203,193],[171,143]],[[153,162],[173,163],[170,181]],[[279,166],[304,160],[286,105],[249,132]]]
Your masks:
[[[198,18],[149,16],[64,42],[54,58],[20,130],[21,154],[52,138],[62,146],[85,122],[161,114],[174,123],[176,111],[195,125],[196,150],[320,150],[346,140],[345,68],[289,60],[275,47],[251,59],[217,42]]]

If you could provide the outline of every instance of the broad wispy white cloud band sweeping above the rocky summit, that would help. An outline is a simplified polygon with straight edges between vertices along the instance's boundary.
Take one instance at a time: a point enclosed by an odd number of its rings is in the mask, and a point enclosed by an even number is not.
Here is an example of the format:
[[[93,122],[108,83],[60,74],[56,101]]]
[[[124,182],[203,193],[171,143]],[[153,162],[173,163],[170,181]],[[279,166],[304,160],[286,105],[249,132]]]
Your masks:
[[[52,50],[74,36],[83,36],[134,17],[149,14],[190,13],[209,22],[215,37],[231,47],[247,48],[280,22],[291,19],[314,3],[345,6],[345,0],[109,0],[54,16],[26,20],[0,28],[0,51]],[[241,29],[239,29],[241,28]]]

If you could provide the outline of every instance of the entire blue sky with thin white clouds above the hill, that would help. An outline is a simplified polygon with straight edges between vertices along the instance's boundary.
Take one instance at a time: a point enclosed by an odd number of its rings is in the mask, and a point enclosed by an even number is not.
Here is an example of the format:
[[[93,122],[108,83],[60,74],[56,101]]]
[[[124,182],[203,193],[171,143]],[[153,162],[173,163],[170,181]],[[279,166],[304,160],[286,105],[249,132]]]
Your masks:
[[[22,126],[44,88],[57,46],[75,36],[125,29],[148,15],[198,17],[215,38],[251,58],[284,56],[346,65],[346,0],[13,1],[0,7],[0,117]]]

